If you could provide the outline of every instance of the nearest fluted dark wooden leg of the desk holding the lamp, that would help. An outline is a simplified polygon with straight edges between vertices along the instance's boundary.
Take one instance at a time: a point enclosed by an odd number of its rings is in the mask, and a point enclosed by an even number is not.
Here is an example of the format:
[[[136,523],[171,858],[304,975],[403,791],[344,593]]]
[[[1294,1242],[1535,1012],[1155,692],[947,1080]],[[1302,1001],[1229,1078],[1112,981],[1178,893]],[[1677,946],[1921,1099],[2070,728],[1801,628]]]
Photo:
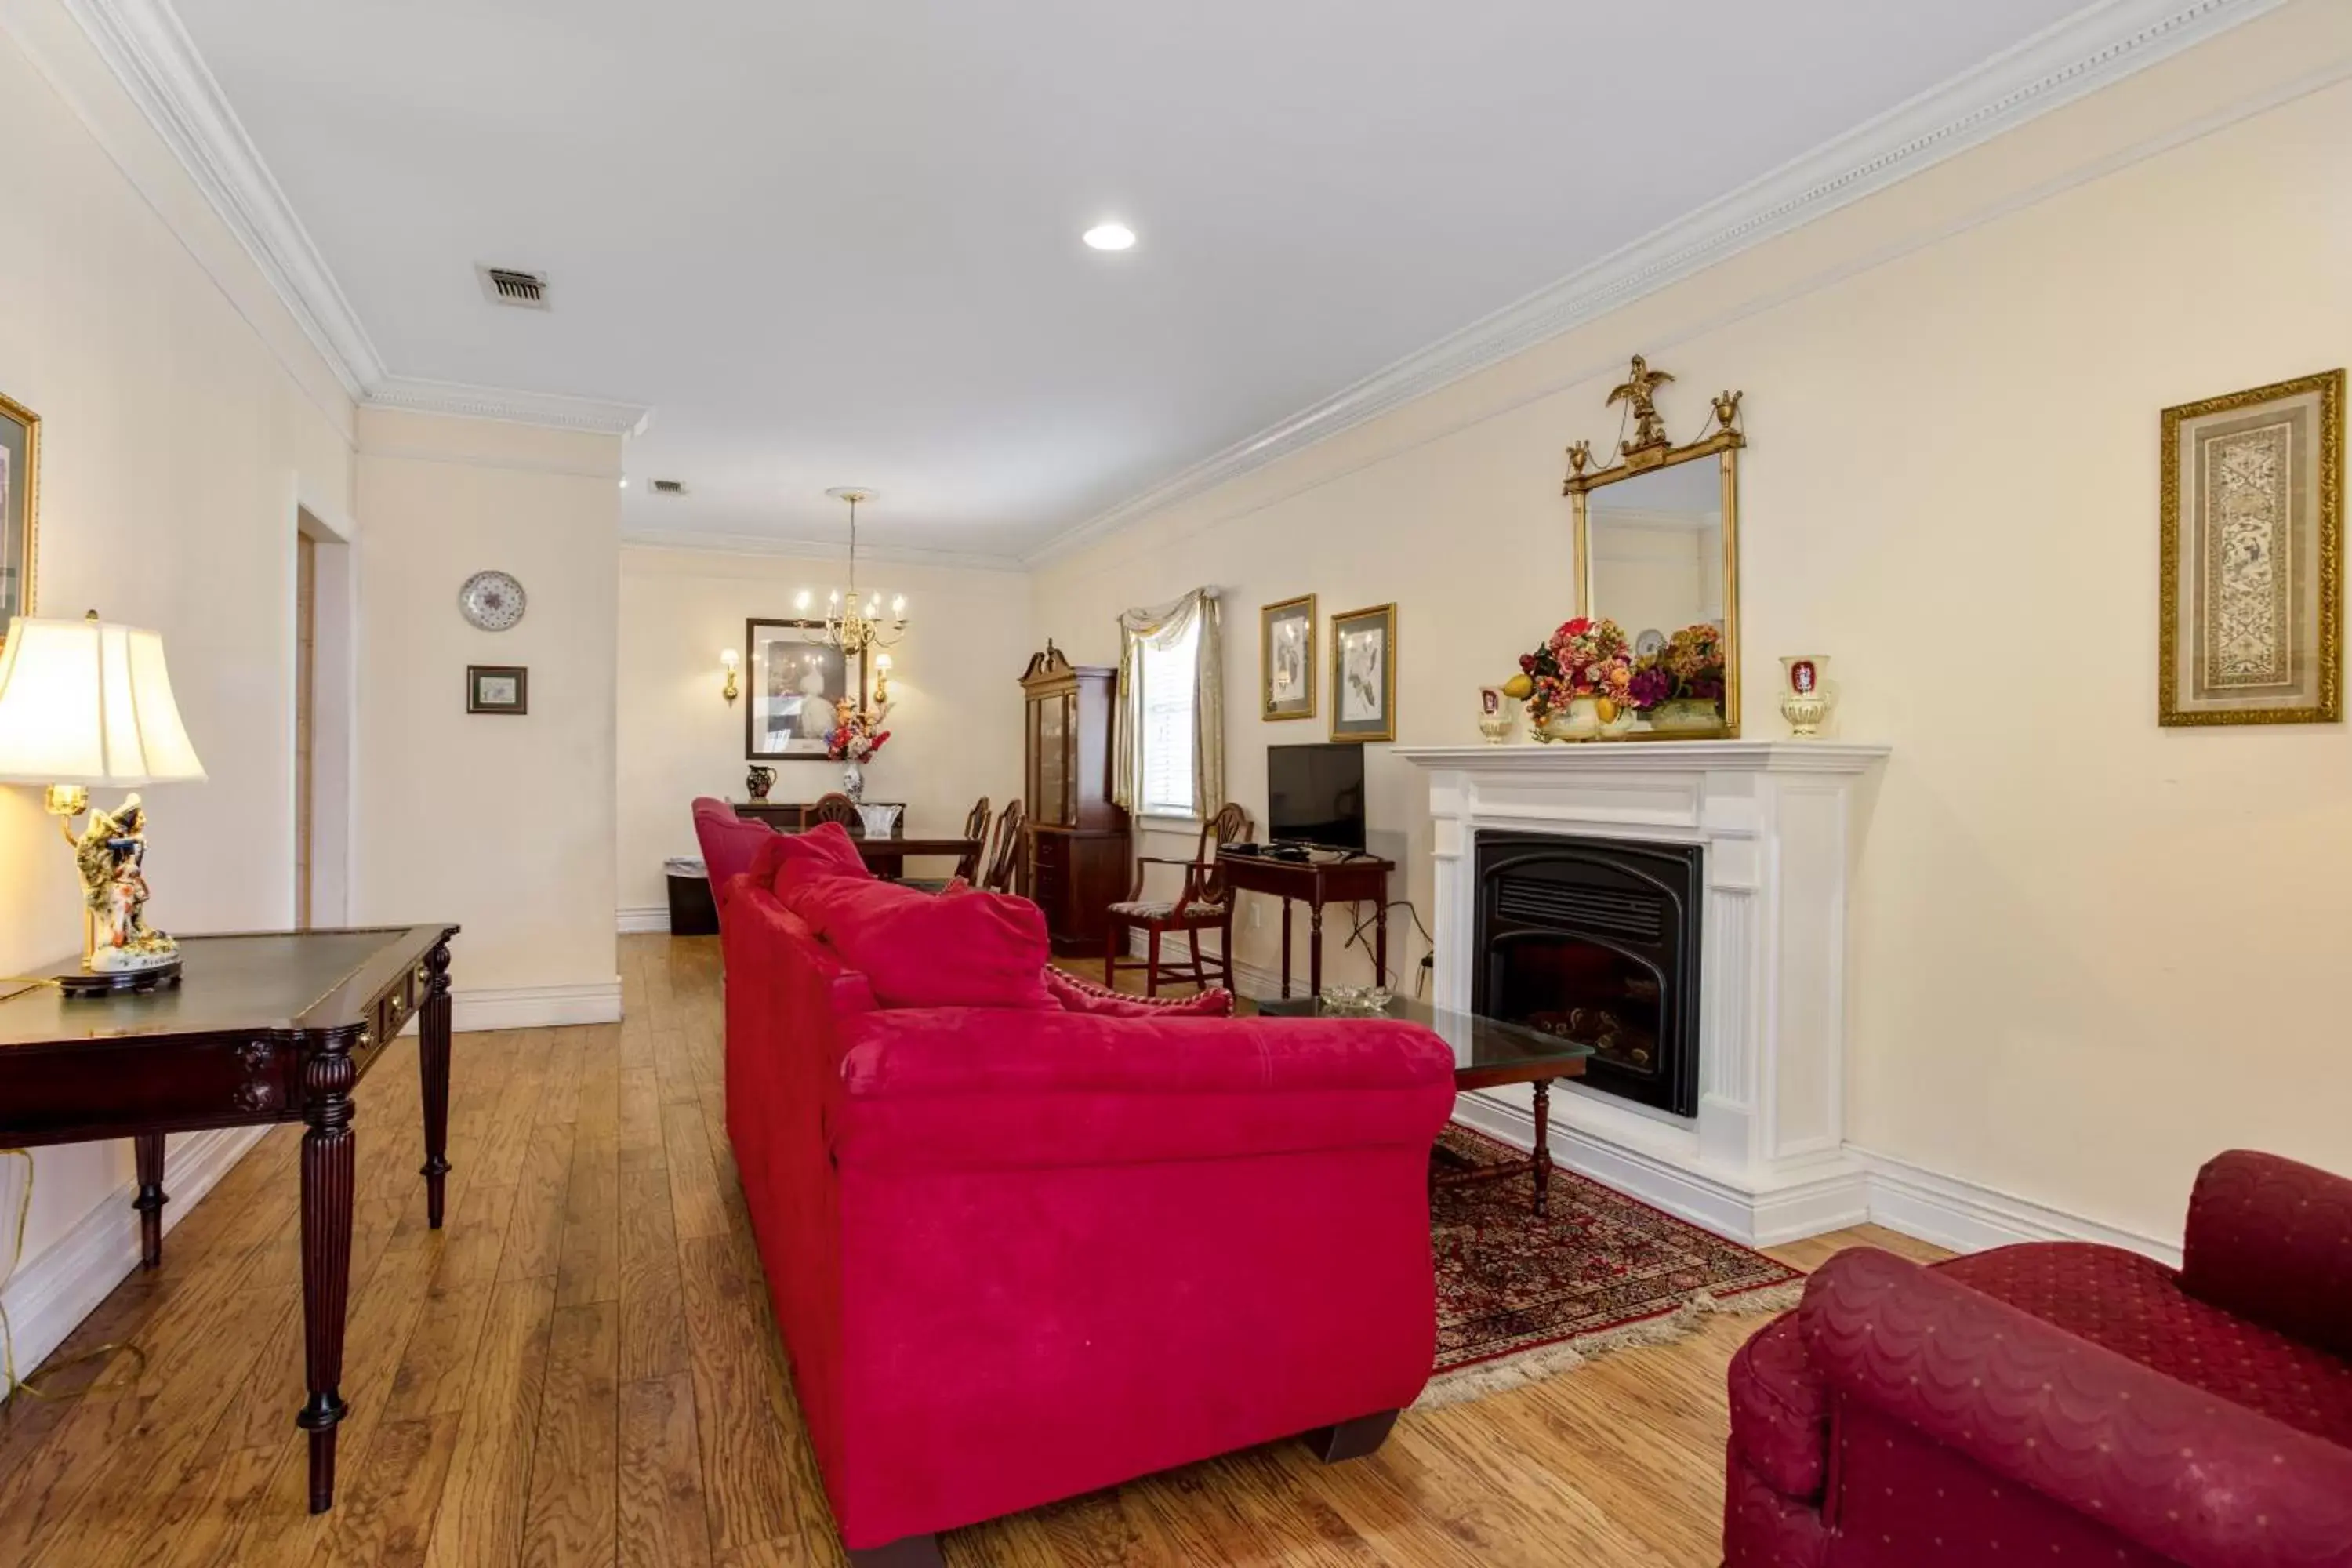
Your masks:
[[[334,1427],[343,1420],[343,1309],[350,1302],[350,1086],[358,1070],[336,1044],[303,1070],[301,1326],[310,1399],[294,1425],[310,1434],[310,1512],[334,1507]]]

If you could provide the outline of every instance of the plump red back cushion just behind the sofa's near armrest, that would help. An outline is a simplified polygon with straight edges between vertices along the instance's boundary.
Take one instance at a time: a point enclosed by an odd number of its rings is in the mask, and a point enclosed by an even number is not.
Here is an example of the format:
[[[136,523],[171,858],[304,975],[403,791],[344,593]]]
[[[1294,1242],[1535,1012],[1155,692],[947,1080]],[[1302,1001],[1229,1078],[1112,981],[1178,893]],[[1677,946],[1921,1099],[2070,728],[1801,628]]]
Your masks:
[[[1058,1009],[1044,987],[1044,910],[1028,898],[938,898],[818,872],[779,877],[779,898],[866,976],[882,1006]]]

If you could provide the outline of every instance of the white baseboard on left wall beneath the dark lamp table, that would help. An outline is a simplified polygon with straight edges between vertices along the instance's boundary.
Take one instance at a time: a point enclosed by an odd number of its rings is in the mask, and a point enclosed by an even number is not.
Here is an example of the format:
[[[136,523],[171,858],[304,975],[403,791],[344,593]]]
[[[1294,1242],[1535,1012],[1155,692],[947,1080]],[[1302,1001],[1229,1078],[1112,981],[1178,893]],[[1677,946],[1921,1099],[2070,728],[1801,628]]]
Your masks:
[[[165,1234],[172,1234],[195,1208],[195,1201],[212,1192],[214,1182],[228,1175],[245,1150],[261,1143],[268,1131],[266,1126],[223,1126],[167,1138],[162,1190],[172,1201],[162,1211]],[[85,1316],[96,1312],[106,1293],[139,1267],[139,1215],[132,1211],[136,1192],[134,1178],[92,1204],[89,1213],[73,1222],[73,1229],[16,1269],[7,1291],[0,1291],[16,1340],[19,1378],[47,1361],[49,1352],[64,1345]],[[7,1389],[0,1389],[0,1399],[5,1396]]]

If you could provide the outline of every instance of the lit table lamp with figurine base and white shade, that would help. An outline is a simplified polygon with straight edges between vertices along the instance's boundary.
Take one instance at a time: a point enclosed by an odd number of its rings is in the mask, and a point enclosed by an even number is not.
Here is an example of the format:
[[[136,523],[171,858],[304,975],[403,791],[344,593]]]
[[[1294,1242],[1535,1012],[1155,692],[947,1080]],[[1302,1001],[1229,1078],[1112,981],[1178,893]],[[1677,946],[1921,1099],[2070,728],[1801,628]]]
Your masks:
[[[0,646],[0,783],[40,785],[82,875],[82,966],[66,994],[179,983],[179,943],[146,924],[139,785],[202,778],[179,722],[162,637],[99,621],[16,616]],[[89,788],[132,790],[113,811]],[[73,830],[73,818],[89,825]]]

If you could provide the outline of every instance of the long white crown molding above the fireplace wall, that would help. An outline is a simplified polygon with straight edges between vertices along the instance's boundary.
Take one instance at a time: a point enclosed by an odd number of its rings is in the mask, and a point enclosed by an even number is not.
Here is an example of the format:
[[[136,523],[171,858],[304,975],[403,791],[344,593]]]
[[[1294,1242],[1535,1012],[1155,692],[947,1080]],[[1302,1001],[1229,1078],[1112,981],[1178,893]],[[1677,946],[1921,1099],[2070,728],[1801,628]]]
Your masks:
[[[2284,2],[2105,0],[2077,12],[1592,266],[1056,534],[1023,555],[1023,562],[1047,567],[1065,559],[1152,512],[1621,310]]]

